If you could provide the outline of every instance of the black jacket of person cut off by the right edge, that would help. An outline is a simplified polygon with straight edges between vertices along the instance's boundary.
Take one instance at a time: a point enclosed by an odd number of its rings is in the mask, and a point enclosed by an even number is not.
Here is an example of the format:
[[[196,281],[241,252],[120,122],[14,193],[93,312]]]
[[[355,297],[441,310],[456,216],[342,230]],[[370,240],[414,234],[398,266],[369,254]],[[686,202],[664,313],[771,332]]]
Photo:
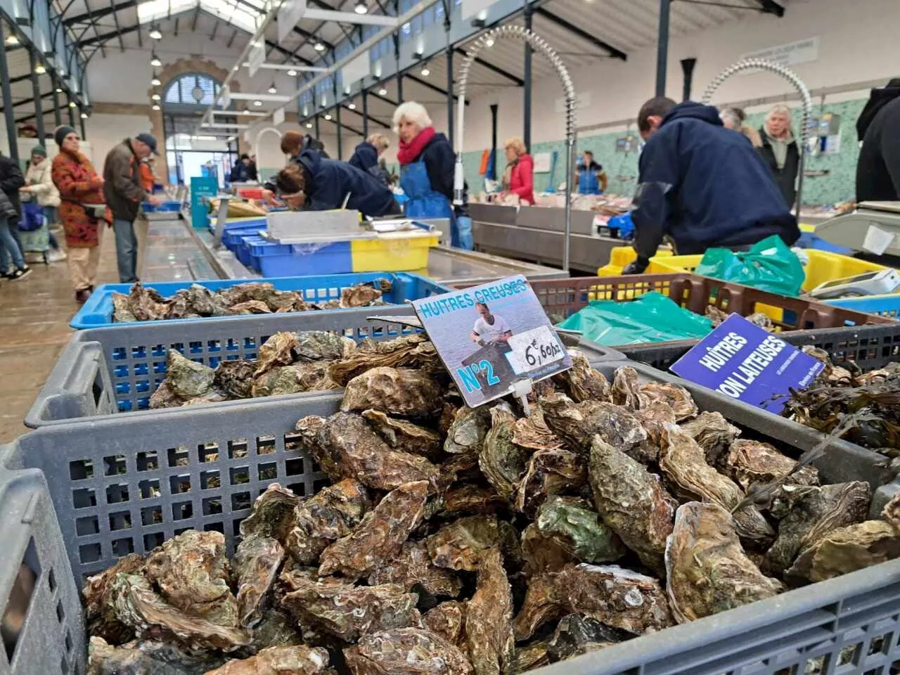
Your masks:
[[[856,201],[900,200],[900,98],[872,119],[856,165]]]

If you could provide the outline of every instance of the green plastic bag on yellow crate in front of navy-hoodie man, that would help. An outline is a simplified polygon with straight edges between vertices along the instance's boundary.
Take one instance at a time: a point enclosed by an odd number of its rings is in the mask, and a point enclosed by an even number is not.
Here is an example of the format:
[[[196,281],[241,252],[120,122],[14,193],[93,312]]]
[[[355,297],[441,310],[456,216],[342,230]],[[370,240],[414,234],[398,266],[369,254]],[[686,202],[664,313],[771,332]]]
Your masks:
[[[806,280],[797,254],[777,234],[753,244],[746,253],[709,248],[694,272],[782,295],[797,295]]]

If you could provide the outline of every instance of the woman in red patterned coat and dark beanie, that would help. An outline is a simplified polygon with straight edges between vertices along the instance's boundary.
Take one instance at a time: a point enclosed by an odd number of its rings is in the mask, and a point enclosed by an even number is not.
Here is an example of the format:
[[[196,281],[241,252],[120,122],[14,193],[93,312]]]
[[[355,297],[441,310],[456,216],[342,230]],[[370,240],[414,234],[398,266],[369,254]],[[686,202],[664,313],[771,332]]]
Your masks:
[[[68,271],[76,301],[85,302],[94,290],[103,224],[112,223],[112,213],[103,208],[103,176],[81,153],[76,130],[61,126],[55,137],[59,154],[53,158],[52,175],[62,200],[59,220],[66,231]]]

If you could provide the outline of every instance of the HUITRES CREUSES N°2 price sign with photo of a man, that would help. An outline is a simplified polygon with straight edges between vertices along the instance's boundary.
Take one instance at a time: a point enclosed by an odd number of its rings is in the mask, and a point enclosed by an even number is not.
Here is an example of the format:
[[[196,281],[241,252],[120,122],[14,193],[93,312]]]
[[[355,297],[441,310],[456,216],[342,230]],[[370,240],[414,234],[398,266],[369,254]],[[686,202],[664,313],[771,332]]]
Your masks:
[[[572,367],[524,276],[433,295],[413,308],[467,405],[482,405]]]

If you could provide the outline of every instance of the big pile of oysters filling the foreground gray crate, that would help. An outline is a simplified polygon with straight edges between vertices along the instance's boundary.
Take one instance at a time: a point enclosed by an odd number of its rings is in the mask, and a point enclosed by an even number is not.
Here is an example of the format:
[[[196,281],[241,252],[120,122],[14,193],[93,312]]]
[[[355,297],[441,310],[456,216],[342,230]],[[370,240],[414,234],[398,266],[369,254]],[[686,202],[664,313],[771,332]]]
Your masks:
[[[329,366],[341,408],[296,442],[330,485],[270,485],[230,558],[189,530],[88,581],[90,672],[509,675],[900,554],[900,499],[786,479],[678,385],[573,353],[529,415],[473,410],[421,340]]]

